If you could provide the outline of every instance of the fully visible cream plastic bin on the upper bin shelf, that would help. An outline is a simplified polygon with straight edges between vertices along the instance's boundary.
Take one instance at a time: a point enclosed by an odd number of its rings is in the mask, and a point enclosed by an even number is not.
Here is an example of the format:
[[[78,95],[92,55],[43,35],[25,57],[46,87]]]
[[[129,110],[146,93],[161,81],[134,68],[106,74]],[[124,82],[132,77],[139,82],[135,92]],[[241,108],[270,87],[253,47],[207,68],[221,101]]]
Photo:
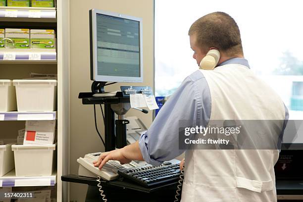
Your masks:
[[[54,111],[57,80],[13,80],[18,111]]]

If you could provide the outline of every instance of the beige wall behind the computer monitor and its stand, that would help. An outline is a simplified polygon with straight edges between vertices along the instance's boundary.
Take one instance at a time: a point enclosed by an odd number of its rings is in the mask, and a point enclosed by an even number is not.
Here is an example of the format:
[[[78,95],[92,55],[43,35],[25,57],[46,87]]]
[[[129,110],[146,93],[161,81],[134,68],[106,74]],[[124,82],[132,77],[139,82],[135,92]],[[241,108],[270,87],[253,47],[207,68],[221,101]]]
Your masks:
[[[95,130],[93,105],[82,105],[79,92],[89,92],[90,51],[89,51],[89,10],[98,8],[143,18],[143,60],[144,83],[132,85],[152,86],[153,84],[153,0],[70,0],[70,174],[78,173],[79,156],[89,152],[104,151]],[[119,90],[121,85],[106,87],[106,91]],[[98,126],[103,136],[104,125],[100,107],[97,107]],[[143,114],[131,109],[128,116],[135,115],[150,126],[152,113]],[[83,202],[86,185],[70,183],[70,201]]]

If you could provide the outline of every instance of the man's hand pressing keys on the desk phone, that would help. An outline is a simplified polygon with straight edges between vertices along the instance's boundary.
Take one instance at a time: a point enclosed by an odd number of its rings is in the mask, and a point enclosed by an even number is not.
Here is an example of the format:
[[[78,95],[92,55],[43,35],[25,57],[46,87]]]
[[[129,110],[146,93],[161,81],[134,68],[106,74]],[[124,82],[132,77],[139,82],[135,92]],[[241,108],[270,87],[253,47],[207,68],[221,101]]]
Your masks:
[[[101,170],[103,165],[109,160],[118,160],[118,161],[120,161],[121,164],[131,162],[130,159],[126,158],[123,155],[123,152],[125,152],[125,151],[123,151],[123,149],[124,148],[119,149],[119,150],[113,150],[113,151],[110,151],[110,152],[101,153],[101,155],[99,156],[99,159],[95,160],[93,162],[94,166],[99,167],[99,169]]]

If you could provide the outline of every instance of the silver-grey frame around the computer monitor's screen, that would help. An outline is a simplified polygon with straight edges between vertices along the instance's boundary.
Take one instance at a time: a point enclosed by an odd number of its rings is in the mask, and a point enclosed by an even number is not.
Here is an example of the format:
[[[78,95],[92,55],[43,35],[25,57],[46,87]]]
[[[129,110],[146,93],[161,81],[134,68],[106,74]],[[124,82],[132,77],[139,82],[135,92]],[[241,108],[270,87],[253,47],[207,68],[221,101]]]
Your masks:
[[[127,20],[135,20],[139,22],[139,52],[140,52],[140,77],[122,77],[122,76],[105,76],[97,74],[97,13],[102,15],[108,15],[113,17],[119,17]],[[124,15],[120,13],[91,9],[90,10],[90,58],[91,58],[91,80],[92,81],[103,81],[103,82],[143,82],[143,19],[140,17],[134,17]]]

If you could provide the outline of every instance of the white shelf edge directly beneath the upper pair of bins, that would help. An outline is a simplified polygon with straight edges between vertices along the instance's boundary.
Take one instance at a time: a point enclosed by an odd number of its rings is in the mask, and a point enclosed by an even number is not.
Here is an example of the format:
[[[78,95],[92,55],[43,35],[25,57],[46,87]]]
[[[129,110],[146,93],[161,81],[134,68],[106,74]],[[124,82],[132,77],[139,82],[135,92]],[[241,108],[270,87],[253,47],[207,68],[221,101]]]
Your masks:
[[[56,120],[56,111],[39,111],[39,112],[20,112],[7,111],[0,112],[0,121],[27,121],[27,120]]]

